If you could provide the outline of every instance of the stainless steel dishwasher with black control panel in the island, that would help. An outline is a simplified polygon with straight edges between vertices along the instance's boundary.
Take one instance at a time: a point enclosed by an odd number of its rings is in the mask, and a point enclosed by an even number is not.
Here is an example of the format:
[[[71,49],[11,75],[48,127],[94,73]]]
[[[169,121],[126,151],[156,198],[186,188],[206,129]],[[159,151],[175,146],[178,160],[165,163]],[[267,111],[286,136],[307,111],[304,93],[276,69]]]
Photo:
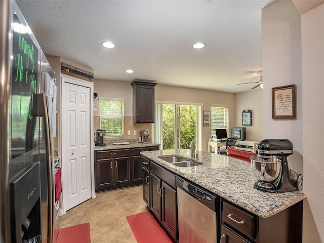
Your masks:
[[[177,176],[179,243],[217,243],[220,197]]]

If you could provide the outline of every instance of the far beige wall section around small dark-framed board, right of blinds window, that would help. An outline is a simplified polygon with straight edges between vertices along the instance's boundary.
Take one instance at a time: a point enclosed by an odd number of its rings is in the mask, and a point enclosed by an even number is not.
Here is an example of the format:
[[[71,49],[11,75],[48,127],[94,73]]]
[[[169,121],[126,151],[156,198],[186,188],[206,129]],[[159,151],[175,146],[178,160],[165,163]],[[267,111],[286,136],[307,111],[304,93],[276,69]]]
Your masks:
[[[247,128],[247,140],[261,141],[263,136],[263,107],[261,88],[235,94],[235,127]],[[252,111],[252,126],[242,126],[242,111]]]

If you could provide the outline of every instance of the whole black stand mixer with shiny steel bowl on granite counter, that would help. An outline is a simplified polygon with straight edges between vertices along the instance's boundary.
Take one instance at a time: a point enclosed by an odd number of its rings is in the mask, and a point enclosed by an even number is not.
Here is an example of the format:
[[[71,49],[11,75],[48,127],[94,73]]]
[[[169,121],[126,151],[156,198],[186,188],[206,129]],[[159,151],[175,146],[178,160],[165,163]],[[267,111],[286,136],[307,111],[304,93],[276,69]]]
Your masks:
[[[259,156],[251,157],[251,167],[258,182],[254,188],[267,192],[298,190],[290,178],[287,157],[293,154],[288,139],[265,139],[256,145]]]

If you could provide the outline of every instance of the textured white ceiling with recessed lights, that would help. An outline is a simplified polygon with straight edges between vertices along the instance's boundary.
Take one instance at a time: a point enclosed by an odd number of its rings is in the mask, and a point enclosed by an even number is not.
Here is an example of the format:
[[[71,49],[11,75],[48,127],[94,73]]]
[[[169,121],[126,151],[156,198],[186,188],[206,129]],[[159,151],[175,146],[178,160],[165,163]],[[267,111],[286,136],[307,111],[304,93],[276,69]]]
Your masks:
[[[236,84],[260,80],[261,10],[273,0],[210,1],[16,2],[47,55],[88,66],[95,78],[248,91],[257,84]]]

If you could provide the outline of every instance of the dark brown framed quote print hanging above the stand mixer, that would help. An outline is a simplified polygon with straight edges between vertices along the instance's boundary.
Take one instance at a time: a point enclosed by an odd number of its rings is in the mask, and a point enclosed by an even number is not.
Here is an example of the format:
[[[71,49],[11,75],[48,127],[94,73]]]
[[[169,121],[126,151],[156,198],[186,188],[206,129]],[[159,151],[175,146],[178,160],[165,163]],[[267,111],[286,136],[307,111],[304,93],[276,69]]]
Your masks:
[[[272,88],[272,118],[296,118],[296,85]]]

